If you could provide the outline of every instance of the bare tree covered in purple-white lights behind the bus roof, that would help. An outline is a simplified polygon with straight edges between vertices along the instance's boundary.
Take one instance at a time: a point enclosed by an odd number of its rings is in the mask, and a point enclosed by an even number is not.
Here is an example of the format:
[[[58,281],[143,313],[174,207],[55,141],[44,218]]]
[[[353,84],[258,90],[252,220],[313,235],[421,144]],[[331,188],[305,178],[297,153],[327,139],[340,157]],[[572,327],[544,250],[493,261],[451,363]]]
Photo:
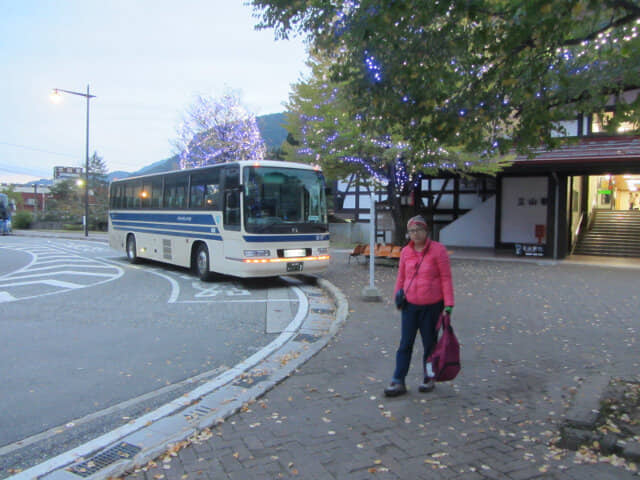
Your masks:
[[[234,160],[262,160],[265,145],[256,118],[234,93],[198,96],[179,128],[180,168]]]

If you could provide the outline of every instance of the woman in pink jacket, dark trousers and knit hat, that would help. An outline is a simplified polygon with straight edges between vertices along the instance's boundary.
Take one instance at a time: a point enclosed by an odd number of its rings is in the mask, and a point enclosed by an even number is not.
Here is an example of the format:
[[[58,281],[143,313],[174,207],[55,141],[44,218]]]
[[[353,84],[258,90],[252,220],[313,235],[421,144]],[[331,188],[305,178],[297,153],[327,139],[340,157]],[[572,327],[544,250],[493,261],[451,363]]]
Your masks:
[[[391,385],[384,389],[388,397],[407,392],[404,379],[409,372],[411,353],[416,334],[420,330],[424,349],[422,364],[436,340],[435,327],[441,313],[447,315],[453,309],[453,282],[451,265],[445,247],[429,238],[427,222],[421,216],[407,223],[409,244],[402,249],[394,296],[401,288],[406,302],[402,307],[402,334],[396,353],[396,369]],[[430,392],[435,387],[433,379],[425,369],[421,392]]]

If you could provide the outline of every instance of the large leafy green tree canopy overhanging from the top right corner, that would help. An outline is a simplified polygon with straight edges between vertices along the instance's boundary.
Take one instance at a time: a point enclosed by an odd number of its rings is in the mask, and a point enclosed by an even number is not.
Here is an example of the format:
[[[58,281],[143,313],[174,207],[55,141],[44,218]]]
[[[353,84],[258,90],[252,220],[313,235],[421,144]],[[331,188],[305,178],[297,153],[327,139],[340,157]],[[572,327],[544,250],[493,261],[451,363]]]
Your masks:
[[[640,98],[623,96],[638,85],[636,1],[251,3],[259,28],[336,52],[330,78],[351,115],[365,132],[408,142],[418,167],[556,146],[561,120],[602,112],[610,97],[610,129],[640,126]]]

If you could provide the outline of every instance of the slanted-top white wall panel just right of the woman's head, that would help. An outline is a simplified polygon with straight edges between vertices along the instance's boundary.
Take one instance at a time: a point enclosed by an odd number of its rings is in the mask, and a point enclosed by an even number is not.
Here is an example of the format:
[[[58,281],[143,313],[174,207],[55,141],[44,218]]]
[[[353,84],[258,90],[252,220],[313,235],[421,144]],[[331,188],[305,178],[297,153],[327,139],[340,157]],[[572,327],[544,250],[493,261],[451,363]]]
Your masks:
[[[495,195],[440,230],[440,242],[451,247],[495,246]]]

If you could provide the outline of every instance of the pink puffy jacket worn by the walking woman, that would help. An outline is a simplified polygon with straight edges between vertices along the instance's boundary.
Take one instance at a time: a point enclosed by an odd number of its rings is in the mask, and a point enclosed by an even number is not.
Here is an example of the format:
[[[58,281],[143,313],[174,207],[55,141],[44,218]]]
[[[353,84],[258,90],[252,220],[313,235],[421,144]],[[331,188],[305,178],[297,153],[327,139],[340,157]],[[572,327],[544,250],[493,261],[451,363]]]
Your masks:
[[[414,305],[431,305],[444,300],[445,306],[453,307],[453,281],[449,254],[444,245],[433,240],[427,240],[427,246],[429,249],[422,264],[420,260],[424,250],[416,252],[413,248],[413,240],[402,249],[394,296],[398,290],[404,288],[407,302]],[[420,264],[420,270],[411,282],[418,264]]]

